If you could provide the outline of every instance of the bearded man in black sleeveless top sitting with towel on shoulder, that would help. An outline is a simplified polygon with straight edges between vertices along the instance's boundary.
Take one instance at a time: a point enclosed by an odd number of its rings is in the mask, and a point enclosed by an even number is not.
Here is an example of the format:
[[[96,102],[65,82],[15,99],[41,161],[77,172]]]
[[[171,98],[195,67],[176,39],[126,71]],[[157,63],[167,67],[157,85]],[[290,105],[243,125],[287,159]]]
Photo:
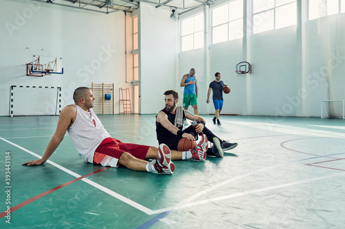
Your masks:
[[[195,116],[193,113],[182,109],[182,107],[177,107],[179,94],[176,91],[168,90],[164,92],[164,96],[166,107],[159,111],[156,116],[156,133],[159,144],[166,144],[170,149],[177,150],[181,138],[195,141],[195,137],[199,133],[204,133],[208,141],[213,143],[213,146],[207,150],[207,155],[223,157],[224,151],[234,149],[237,146],[237,143],[220,140],[212,131],[205,127],[205,119],[201,116]],[[190,125],[182,131],[186,118],[197,121],[197,125],[195,127]],[[188,154],[190,152],[187,152]]]

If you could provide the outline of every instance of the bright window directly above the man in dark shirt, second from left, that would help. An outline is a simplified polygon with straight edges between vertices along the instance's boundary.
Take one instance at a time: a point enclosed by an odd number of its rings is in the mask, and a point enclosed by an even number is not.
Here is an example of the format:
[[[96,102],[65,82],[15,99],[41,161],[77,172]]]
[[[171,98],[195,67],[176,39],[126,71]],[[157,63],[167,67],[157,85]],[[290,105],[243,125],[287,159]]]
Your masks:
[[[212,10],[212,43],[243,37],[243,0],[232,1]]]

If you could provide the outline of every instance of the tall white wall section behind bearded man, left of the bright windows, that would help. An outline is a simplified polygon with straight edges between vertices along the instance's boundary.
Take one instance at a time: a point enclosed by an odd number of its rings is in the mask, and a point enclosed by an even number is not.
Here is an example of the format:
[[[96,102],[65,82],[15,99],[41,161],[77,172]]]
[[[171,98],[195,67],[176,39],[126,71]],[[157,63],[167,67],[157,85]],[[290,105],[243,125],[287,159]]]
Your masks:
[[[141,113],[164,108],[164,91],[176,89],[177,21],[171,12],[140,3]]]

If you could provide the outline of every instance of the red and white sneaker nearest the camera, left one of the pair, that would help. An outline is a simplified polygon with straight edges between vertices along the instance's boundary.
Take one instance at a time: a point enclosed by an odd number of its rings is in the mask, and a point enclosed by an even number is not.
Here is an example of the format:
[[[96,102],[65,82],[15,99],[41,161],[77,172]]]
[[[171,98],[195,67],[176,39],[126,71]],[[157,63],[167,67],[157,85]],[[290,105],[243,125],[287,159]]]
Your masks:
[[[166,144],[160,144],[158,147],[158,159],[153,165],[157,173],[172,174],[175,171],[175,164],[171,161],[170,149]]]

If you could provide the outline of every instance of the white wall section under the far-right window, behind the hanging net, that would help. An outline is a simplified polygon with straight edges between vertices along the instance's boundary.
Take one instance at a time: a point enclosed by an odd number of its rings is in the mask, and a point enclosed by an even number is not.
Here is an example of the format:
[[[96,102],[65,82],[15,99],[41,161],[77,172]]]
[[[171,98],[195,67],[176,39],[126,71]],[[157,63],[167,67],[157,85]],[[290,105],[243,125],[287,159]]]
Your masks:
[[[345,100],[345,14],[333,15],[329,18],[335,23],[335,36],[327,34],[331,41],[331,55],[328,61],[334,61],[333,68],[333,99]],[[328,83],[325,77],[325,67],[322,61],[322,46],[325,45],[320,39],[317,27],[317,19],[308,21],[304,26],[305,42],[304,42],[304,78],[302,81],[305,85],[305,104],[304,114],[306,116],[320,115],[320,100],[328,100]],[[328,25],[333,27],[332,25]],[[322,28],[322,26],[321,26]],[[322,28],[324,30],[325,28]],[[338,113],[339,104],[337,104]]]

